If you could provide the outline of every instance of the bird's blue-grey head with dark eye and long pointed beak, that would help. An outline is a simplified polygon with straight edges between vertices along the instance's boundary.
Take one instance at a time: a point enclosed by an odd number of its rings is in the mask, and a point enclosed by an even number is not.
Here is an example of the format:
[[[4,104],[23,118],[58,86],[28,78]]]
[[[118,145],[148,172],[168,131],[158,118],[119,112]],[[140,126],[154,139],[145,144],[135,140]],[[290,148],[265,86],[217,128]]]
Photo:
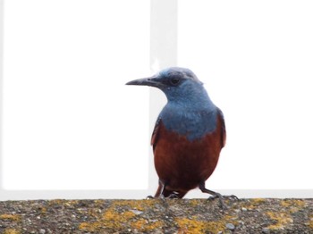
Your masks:
[[[207,96],[203,83],[187,68],[171,67],[159,71],[156,75],[135,79],[126,85],[150,86],[161,89],[169,101],[190,99],[191,97]],[[193,99],[193,98],[192,98]]]

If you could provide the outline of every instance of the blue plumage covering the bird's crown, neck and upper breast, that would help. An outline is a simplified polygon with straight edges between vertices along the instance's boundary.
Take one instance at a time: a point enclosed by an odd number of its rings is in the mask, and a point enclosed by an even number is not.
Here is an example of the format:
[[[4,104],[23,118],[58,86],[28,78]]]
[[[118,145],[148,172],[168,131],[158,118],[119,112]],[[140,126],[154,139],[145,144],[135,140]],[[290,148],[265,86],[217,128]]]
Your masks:
[[[171,68],[170,71],[160,72],[161,79],[183,78],[179,86],[162,89],[168,102],[158,118],[163,121],[165,128],[189,140],[202,138],[214,131],[217,107],[208,97],[202,82],[189,70]]]

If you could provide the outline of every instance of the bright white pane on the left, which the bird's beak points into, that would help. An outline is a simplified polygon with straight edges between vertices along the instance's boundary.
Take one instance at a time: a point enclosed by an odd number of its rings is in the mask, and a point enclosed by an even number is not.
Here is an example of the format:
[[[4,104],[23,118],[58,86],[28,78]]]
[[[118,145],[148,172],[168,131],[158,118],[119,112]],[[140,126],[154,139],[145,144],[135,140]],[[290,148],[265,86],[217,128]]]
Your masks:
[[[4,188],[146,189],[148,56],[148,1],[5,1]]]

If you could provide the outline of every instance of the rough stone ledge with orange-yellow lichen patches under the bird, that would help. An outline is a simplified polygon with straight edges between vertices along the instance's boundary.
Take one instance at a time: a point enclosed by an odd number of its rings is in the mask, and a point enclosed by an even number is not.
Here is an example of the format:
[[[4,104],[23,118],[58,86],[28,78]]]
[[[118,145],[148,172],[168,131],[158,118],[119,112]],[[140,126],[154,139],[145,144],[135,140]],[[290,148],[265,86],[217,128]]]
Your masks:
[[[0,202],[0,233],[313,233],[313,199]]]

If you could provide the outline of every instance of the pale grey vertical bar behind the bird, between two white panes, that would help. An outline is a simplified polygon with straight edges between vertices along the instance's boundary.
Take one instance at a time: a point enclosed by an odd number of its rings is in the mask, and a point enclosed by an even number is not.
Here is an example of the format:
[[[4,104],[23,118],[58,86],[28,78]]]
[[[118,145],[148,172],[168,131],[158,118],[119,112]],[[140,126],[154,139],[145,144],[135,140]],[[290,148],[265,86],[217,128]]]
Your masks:
[[[150,66],[152,73],[177,63],[177,0],[150,1]],[[150,88],[149,132],[152,132],[157,114],[165,104],[165,96],[156,88]],[[148,192],[157,189],[157,173],[152,151],[149,155]]]

